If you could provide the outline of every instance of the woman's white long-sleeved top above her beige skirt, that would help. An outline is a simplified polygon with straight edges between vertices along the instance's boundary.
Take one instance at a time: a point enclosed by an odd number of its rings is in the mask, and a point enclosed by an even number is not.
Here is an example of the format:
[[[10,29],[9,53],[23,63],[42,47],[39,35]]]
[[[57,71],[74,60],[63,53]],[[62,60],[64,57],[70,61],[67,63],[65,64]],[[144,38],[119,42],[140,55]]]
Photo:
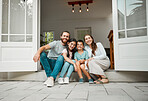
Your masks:
[[[85,50],[88,52],[89,58],[93,57],[94,59],[100,59],[100,60],[109,59],[106,55],[103,45],[100,42],[96,43],[96,45],[97,49],[95,51],[95,55],[92,54],[92,49],[88,45],[85,46]]]

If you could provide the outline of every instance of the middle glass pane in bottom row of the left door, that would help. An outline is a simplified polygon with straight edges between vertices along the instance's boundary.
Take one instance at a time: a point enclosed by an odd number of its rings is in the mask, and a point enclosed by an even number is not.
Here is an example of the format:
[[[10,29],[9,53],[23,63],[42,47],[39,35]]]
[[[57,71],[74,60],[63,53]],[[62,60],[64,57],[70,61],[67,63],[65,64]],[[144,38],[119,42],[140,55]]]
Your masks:
[[[10,42],[24,42],[24,35],[10,35]]]

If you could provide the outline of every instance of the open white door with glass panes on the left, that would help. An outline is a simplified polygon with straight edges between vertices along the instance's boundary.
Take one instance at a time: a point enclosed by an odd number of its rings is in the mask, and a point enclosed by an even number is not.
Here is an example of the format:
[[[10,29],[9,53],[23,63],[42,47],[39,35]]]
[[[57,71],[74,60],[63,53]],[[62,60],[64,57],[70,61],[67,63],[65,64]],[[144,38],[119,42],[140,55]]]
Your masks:
[[[0,0],[0,72],[37,71],[38,0]]]

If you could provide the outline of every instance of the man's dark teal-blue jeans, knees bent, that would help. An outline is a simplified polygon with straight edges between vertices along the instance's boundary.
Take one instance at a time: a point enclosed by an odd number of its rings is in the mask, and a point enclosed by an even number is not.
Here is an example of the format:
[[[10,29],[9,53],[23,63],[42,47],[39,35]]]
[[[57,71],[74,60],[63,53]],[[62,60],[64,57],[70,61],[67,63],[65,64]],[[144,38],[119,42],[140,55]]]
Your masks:
[[[57,60],[49,59],[45,52],[40,54],[40,62],[43,65],[43,68],[46,72],[47,77],[53,77],[56,79],[58,73],[60,72],[63,63],[64,57],[60,55]]]

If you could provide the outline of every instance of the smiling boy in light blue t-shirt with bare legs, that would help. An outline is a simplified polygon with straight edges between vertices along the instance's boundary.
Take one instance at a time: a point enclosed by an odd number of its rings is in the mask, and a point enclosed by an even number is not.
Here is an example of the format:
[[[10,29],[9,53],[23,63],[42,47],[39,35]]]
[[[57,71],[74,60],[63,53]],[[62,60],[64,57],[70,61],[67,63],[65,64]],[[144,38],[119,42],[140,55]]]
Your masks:
[[[89,73],[85,70],[85,61],[88,59],[88,52],[84,50],[84,42],[82,40],[77,41],[77,52],[74,54],[74,59],[76,61],[77,73],[79,75],[79,83],[83,83],[82,72],[87,76],[89,83],[92,84],[93,80],[91,79]]]

